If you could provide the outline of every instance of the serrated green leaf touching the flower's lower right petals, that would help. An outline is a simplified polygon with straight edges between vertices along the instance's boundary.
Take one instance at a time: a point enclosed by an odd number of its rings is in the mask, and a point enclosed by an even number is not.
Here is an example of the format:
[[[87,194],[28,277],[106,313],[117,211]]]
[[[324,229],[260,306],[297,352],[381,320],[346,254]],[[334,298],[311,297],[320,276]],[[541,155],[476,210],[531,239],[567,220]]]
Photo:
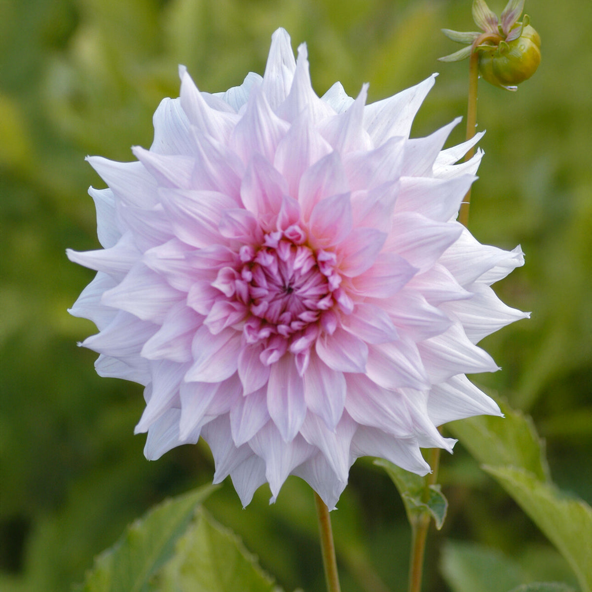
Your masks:
[[[446,424],[461,444],[484,465],[516,466],[549,480],[545,446],[532,419],[497,401],[505,417],[469,417]]]

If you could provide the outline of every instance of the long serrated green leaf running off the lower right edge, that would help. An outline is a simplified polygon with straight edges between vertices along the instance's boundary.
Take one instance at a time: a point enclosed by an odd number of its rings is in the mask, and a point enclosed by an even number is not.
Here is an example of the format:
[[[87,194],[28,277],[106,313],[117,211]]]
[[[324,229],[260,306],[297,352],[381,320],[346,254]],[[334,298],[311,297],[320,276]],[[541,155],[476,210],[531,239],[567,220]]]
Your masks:
[[[592,508],[535,475],[509,466],[484,466],[570,563],[584,592],[592,591]]]

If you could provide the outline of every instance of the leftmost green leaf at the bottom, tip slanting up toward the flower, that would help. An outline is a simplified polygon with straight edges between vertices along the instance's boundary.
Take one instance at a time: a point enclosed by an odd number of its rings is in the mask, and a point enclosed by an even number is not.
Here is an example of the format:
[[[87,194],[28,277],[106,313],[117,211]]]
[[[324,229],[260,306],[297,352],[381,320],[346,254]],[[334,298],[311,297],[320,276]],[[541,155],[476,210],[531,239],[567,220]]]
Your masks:
[[[162,504],[127,527],[114,546],[95,559],[81,592],[147,592],[149,581],[173,555],[198,504],[215,489],[201,487]]]

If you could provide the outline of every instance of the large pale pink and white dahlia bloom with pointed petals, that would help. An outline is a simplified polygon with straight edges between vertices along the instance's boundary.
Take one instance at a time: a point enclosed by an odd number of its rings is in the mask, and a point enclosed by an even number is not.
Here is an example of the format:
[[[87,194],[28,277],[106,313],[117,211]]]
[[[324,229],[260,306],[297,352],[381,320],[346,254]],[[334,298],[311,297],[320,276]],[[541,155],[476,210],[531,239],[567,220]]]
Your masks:
[[[263,77],[208,94],[180,76],[136,162],[88,158],[103,249],[67,252],[97,271],[70,310],[98,327],[96,371],[145,386],[146,457],[201,436],[243,505],[298,475],[332,508],[359,456],[426,474],[420,446],[454,443],[436,426],[500,414],[465,373],[495,371],[475,344],[527,316],[490,288],[520,248],[455,221],[480,136],[409,139],[434,76],[319,98],[282,29]]]

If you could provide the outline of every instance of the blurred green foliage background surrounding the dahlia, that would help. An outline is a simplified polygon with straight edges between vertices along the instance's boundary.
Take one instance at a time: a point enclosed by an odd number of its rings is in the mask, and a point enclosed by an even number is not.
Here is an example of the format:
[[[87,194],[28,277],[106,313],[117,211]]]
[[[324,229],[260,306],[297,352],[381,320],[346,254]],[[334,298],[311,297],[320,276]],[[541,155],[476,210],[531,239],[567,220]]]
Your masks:
[[[425,135],[464,114],[465,64],[436,59],[455,49],[440,28],[474,28],[470,4],[0,1],[2,590],[67,590],[130,520],[213,475],[201,443],[147,462],[143,436],[133,436],[140,387],[99,379],[94,353],[76,348],[94,326],[66,308],[92,272],[64,250],[98,246],[85,191],[104,186],[83,157],[132,160],[130,146],[149,146],[160,99],[178,95],[179,63],[210,92],[239,84],[249,70],[262,73],[278,26],[294,49],[307,41],[318,94],[338,79],[356,95],[368,81],[374,101],[439,71],[414,124],[413,134]],[[555,482],[590,503],[592,4],[530,0],[526,12],[542,37],[542,64],[516,94],[480,85],[478,122],[488,131],[471,230],[481,242],[522,243],[526,266],[497,291],[533,315],[484,340],[503,371],[475,379],[532,414]],[[463,139],[461,128],[451,144]],[[453,580],[442,574],[471,558],[492,574],[511,558],[529,581],[575,586],[564,559],[460,445],[443,459],[441,482],[448,519],[430,535],[426,592],[448,590]],[[242,510],[225,482],[205,505],[286,590],[323,590],[310,490],[290,478],[274,506],[268,499],[263,487]],[[344,592],[406,589],[410,533],[381,469],[354,465],[332,519]]]

